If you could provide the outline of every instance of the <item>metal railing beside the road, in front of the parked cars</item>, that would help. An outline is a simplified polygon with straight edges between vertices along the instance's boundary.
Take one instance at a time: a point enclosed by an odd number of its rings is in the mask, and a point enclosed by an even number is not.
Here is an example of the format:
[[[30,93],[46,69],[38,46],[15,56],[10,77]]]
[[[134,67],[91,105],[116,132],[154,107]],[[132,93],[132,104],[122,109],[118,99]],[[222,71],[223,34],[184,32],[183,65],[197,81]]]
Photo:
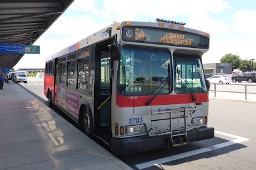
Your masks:
[[[217,97],[220,93],[239,93],[244,94],[243,99],[248,100],[248,95],[251,95],[249,100],[256,100],[256,84],[211,84],[210,92],[214,92],[214,97]],[[212,88],[213,86],[213,88]],[[232,88],[236,87],[236,88]],[[225,96],[224,98],[227,98]],[[230,98],[230,97],[229,97]],[[241,98],[241,95],[238,97],[236,95],[233,98]]]

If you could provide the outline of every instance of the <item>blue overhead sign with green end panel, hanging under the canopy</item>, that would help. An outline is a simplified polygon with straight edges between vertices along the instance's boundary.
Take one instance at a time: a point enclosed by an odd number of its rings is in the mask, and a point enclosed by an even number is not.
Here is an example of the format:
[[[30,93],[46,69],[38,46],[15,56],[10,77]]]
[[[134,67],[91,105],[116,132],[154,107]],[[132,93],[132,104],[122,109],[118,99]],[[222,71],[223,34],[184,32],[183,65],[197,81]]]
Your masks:
[[[0,43],[0,53],[40,54],[40,46]]]

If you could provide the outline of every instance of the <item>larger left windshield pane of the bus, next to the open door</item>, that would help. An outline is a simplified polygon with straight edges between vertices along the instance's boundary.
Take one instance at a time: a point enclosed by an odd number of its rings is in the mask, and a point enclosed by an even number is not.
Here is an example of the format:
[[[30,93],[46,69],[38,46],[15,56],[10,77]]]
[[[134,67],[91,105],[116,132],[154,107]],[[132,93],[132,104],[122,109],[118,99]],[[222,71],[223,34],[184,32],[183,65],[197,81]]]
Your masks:
[[[122,47],[118,92],[122,95],[136,96],[169,94],[170,82],[163,82],[170,74],[170,56],[170,51],[166,49]]]

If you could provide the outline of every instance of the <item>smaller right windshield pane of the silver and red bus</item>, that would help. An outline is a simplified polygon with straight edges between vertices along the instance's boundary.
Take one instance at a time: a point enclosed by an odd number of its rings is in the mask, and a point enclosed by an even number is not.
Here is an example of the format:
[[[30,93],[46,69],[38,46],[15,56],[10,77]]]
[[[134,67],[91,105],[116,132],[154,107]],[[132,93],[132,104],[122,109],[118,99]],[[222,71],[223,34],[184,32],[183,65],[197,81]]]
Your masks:
[[[174,53],[173,65],[175,93],[207,92],[204,69],[199,56]]]

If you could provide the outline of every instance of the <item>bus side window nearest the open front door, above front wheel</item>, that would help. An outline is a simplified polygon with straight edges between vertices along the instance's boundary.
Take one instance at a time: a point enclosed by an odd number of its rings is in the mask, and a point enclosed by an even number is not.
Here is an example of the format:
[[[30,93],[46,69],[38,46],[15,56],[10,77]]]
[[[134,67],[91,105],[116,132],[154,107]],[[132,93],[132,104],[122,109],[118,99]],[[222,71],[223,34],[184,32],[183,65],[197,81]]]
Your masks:
[[[77,68],[77,89],[87,91],[89,83],[89,59],[79,59]]]

